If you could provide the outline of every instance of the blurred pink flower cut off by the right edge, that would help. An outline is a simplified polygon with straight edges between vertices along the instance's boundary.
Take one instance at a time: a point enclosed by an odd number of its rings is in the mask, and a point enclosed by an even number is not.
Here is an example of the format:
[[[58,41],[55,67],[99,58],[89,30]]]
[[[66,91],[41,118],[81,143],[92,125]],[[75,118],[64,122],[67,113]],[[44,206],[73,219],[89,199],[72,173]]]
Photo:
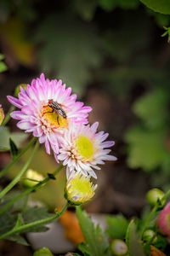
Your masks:
[[[170,237],[170,202],[161,210],[157,225],[163,235]]]

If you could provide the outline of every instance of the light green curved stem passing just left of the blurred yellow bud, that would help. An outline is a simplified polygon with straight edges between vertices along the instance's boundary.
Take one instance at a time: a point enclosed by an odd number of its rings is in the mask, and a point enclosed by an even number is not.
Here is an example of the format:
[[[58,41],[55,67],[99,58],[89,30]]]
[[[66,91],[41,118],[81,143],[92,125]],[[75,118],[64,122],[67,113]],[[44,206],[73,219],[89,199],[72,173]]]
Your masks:
[[[28,169],[28,166],[30,165],[31,160],[32,160],[34,154],[36,153],[38,146],[39,146],[39,143],[37,142],[35,148],[34,148],[34,149],[32,150],[32,152],[31,152],[30,157],[29,157],[28,160],[26,161],[26,164],[22,167],[22,169],[20,170],[20,172],[18,173],[18,175],[17,175],[16,177],[14,177],[14,179],[8,184],[8,186],[0,192],[0,199],[1,199],[4,195],[6,195],[6,194],[8,193],[8,191],[9,191],[10,189],[12,189],[16,183],[18,183],[18,182],[20,181],[20,177],[22,177],[22,175],[23,175],[23,174],[26,172],[26,170]]]

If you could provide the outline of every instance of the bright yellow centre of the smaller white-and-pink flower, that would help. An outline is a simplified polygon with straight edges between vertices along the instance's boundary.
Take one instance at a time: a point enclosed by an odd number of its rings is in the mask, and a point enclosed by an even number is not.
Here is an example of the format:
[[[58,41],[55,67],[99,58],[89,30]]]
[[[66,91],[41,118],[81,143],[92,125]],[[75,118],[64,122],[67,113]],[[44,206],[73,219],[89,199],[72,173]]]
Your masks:
[[[79,136],[76,141],[77,152],[83,160],[92,160],[94,156],[94,144],[88,137]]]

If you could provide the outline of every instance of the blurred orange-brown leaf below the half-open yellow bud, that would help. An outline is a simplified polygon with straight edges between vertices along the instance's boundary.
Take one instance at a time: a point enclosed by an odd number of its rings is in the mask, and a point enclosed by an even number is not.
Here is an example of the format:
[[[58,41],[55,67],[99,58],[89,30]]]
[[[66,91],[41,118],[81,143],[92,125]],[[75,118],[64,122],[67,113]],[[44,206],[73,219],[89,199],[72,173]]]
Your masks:
[[[59,218],[60,223],[65,228],[65,236],[74,243],[80,243],[84,241],[82,230],[78,223],[77,216],[74,212],[66,211]]]

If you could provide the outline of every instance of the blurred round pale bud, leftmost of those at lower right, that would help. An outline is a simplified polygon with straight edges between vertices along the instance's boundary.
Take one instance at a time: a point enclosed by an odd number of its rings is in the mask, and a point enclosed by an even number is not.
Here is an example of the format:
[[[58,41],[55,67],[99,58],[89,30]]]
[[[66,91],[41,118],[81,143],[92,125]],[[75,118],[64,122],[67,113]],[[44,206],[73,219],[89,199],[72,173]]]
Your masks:
[[[115,256],[123,256],[127,254],[127,245],[121,239],[114,239],[111,242],[111,252]]]

